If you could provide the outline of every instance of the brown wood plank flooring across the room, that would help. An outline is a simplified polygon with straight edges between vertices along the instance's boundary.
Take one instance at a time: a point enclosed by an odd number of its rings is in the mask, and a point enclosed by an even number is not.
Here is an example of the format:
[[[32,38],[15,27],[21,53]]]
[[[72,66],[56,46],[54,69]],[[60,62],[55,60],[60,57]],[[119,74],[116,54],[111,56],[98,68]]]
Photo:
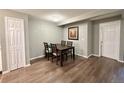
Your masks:
[[[105,57],[76,56],[60,67],[43,58],[31,66],[9,72],[1,82],[11,83],[107,83],[124,82],[124,63]]]

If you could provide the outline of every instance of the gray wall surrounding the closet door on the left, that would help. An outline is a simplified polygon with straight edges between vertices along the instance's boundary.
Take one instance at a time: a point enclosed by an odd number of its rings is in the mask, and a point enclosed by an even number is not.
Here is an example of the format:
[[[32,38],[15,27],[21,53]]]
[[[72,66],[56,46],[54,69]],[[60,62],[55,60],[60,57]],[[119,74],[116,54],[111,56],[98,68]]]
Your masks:
[[[6,43],[5,43],[5,16],[23,18],[24,19],[24,30],[25,30],[25,47],[26,47],[26,64],[30,63],[29,60],[29,37],[28,37],[28,16],[22,13],[18,13],[10,10],[0,10],[0,38],[1,38],[1,47],[2,47],[2,68],[3,71],[7,69],[7,60],[6,60]]]

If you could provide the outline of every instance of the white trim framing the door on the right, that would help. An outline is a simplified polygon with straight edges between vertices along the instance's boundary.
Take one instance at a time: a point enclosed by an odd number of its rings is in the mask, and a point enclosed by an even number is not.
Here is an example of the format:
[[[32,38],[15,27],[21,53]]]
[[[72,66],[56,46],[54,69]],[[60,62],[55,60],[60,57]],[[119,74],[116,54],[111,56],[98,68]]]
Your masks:
[[[119,23],[121,24],[121,20],[116,20],[116,21],[119,21]],[[116,21],[110,21],[110,23],[111,22],[116,22]],[[109,23],[109,22],[106,22],[106,23]],[[100,24],[104,24],[104,23],[100,23]],[[100,24],[99,24],[99,56],[102,56],[102,32],[101,32],[101,30],[100,30]],[[119,30],[119,47],[117,47],[118,48],[118,59],[116,59],[116,60],[119,60],[119,57],[120,57],[120,31],[121,31],[121,29]],[[114,58],[113,58],[114,59]]]

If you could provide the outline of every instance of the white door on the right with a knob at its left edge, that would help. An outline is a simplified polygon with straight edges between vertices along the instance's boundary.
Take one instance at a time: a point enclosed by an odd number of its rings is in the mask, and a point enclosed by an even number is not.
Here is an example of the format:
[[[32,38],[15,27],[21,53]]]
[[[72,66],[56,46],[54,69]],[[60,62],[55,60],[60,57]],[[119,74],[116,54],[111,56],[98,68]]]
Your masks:
[[[101,56],[119,59],[120,20],[100,24]]]

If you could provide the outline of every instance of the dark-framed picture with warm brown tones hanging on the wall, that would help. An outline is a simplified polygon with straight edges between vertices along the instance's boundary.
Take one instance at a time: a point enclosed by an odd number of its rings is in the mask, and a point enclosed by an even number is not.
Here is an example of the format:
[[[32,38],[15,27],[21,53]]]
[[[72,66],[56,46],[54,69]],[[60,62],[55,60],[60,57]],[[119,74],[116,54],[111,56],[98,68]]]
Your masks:
[[[78,40],[79,38],[79,28],[76,27],[69,27],[68,28],[68,39],[69,40]]]

